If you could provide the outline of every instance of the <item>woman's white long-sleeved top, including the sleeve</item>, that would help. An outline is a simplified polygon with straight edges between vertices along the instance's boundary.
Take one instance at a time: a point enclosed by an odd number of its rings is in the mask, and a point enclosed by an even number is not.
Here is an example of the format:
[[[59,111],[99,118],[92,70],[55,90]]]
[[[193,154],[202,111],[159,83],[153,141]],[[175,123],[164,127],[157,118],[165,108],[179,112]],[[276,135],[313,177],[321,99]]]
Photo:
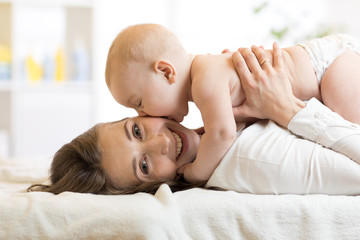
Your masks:
[[[360,126],[315,98],[288,129],[263,120],[238,133],[207,187],[255,194],[360,194]]]

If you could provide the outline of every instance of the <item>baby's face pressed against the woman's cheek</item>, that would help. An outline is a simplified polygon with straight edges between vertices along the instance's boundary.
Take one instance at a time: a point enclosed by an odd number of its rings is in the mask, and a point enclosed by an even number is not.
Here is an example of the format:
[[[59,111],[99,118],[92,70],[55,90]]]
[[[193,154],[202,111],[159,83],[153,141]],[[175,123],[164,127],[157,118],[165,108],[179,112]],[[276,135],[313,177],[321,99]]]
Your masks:
[[[113,66],[120,66],[114,60]],[[167,117],[181,122],[188,114],[188,97],[183,87],[170,84],[151,66],[131,63],[128,68],[112,67],[109,89],[121,105],[135,109],[140,116]]]

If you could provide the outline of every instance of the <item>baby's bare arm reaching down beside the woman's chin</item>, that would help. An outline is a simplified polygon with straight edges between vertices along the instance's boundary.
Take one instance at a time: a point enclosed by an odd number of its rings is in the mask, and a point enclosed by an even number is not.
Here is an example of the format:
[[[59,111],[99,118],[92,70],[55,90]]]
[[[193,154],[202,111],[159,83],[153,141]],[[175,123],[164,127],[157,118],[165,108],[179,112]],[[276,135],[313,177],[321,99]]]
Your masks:
[[[222,71],[198,69],[193,78],[192,95],[200,109],[205,133],[201,138],[195,161],[184,169],[189,182],[208,180],[228,151],[236,135],[228,81]]]

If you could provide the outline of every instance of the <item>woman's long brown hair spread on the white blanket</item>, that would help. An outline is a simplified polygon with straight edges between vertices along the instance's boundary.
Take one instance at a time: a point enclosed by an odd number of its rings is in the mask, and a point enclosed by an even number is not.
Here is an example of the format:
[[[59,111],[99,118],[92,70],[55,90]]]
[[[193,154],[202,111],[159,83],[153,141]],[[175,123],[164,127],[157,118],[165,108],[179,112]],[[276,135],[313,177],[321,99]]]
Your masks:
[[[137,186],[118,188],[112,184],[101,165],[102,150],[98,143],[102,124],[62,146],[54,155],[50,168],[50,185],[33,184],[28,192],[41,191],[59,194],[62,192],[94,193],[104,195],[133,194],[137,192],[155,193],[166,183],[175,192],[193,187],[203,187],[205,183],[190,184],[182,176],[174,180],[147,182]]]

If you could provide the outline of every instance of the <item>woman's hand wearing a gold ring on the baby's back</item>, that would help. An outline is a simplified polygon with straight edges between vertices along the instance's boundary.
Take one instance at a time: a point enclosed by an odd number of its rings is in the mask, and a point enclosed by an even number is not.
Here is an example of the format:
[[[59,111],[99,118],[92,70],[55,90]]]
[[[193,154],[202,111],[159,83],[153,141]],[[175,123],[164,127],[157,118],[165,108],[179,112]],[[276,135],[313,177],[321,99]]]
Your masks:
[[[252,50],[252,51],[251,51]],[[235,117],[271,119],[287,127],[291,118],[305,107],[296,98],[285,71],[281,49],[273,45],[273,66],[261,47],[242,48],[233,54],[246,99],[234,107]]]

